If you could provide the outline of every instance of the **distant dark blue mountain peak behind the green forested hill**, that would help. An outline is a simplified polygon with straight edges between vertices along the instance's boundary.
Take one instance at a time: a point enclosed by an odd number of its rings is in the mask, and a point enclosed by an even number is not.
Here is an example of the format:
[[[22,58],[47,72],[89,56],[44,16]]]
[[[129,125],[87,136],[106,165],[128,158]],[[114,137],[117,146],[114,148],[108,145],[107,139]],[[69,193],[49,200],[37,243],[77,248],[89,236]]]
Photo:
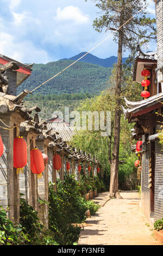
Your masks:
[[[81,52],[77,54],[76,56],[71,57],[71,60],[77,60],[81,58],[86,52]],[[63,59],[67,60],[67,59]],[[122,58],[122,63],[126,62],[127,58]],[[91,63],[99,66],[104,66],[105,68],[112,67],[113,64],[117,63],[117,57],[111,56],[106,59],[98,58],[91,53],[88,53],[86,56],[84,56],[82,59],[79,60],[79,62],[85,62],[85,63]]]

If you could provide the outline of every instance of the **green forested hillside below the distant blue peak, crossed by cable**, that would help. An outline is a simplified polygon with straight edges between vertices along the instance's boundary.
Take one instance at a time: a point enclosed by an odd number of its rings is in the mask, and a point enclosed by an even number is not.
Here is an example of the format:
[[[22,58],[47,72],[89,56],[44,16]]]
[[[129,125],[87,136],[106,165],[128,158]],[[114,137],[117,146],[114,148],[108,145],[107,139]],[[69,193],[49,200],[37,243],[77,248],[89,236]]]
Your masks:
[[[25,88],[29,90],[34,89],[72,62],[73,60],[59,60],[47,64],[35,64],[32,74],[17,88],[17,93],[22,92]],[[36,93],[44,95],[87,92],[98,94],[109,87],[108,80],[111,75],[111,69],[111,67],[104,68],[99,65],[78,62],[53,80],[41,86],[36,90]]]

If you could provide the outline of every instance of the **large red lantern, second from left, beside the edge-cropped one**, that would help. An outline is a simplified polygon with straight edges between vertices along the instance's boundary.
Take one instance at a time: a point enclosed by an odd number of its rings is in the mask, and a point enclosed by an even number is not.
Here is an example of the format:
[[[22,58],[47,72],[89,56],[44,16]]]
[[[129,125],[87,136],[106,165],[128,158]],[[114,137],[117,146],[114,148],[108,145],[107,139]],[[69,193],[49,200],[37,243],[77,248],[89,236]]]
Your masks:
[[[27,143],[23,137],[14,139],[13,148],[14,167],[17,168],[17,174],[27,165]]]

